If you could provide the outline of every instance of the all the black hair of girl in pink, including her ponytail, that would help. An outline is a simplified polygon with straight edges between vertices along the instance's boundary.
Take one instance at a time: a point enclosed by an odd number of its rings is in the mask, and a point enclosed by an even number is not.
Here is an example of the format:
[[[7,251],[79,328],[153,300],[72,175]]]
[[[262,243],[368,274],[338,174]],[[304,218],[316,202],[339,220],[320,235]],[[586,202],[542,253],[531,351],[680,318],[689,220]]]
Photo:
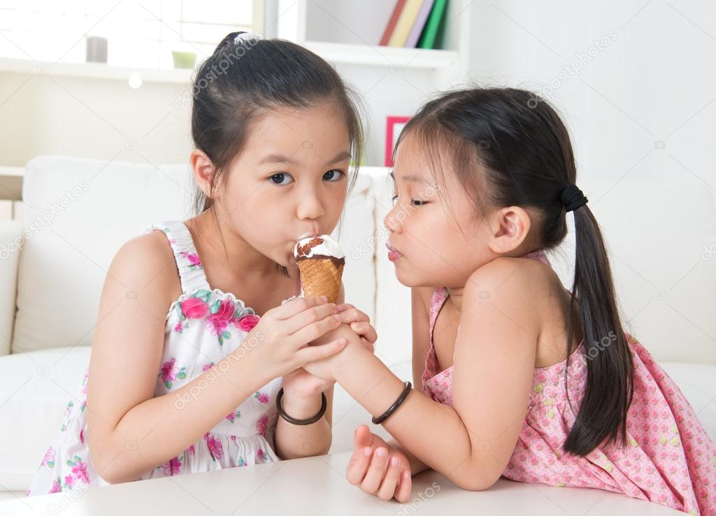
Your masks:
[[[576,164],[569,132],[545,99],[512,88],[446,92],[412,117],[396,149],[406,135],[420,139],[434,164],[441,155],[450,157],[477,212],[507,206],[532,208],[537,219],[532,221],[536,248],[553,249],[564,240],[566,210],[560,197],[576,182]],[[442,165],[435,166],[434,172],[437,169],[442,170]],[[574,232],[576,263],[566,359],[569,365],[578,303],[589,360],[584,397],[563,449],[584,457],[605,439],[626,443],[633,366],[604,240],[588,205],[574,210]],[[604,339],[609,344],[604,345]]]

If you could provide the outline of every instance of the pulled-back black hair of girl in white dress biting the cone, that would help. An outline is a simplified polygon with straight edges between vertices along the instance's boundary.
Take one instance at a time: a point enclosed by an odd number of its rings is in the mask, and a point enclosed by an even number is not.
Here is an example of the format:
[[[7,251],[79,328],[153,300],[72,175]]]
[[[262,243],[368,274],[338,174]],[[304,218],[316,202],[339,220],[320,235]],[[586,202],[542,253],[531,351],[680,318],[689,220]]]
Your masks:
[[[256,117],[279,107],[306,109],[321,102],[334,102],[344,115],[353,164],[349,184],[354,185],[363,150],[363,107],[336,70],[314,52],[282,39],[231,32],[201,64],[192,97],[191,135],[214,167],[211,191],[241,152]],[[195,213],[212,204],[198,190]]]

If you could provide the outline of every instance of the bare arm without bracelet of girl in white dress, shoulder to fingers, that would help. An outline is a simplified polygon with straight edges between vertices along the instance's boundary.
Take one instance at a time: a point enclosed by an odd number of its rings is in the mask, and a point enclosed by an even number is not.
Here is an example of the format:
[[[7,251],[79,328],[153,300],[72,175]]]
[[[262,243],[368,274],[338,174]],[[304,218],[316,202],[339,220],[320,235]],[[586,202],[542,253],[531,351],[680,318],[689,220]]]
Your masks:
[[[155,235],[164,240],[151,240]],[[160,243],[165,248],[153,247]],[[107,482],[136,480],[183,452],[271,379],[343,349],[335,341],[306,347],[337,328],[335,305],[292,301],[264,313],[236,351],[212,369],[153,397],[173,291],[163,271],[176,271],[169,253],[161,233],[130,240],[102,291],[87,386],[87,439]]]

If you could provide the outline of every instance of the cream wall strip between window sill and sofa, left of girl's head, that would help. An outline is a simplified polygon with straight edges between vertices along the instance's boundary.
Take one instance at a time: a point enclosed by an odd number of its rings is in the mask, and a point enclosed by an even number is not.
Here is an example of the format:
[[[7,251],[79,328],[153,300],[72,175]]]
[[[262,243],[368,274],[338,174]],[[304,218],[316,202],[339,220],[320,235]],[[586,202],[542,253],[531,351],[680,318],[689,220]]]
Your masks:
[[[190,107],[183,84],[0,71],[0,165],[55,154],[132,162],[185,162]]]

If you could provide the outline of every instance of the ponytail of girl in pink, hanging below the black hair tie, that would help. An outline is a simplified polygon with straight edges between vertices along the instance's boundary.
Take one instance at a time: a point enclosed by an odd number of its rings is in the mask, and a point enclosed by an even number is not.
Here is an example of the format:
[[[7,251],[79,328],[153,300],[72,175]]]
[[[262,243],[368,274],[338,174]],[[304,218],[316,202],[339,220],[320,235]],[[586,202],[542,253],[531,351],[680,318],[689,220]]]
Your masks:
[[[574,336],[574,302],[584,336],[587,377],[576,421],[563,445],[581,457],[604,439],[627,442],[627,412],[632,404],[632,354],[621,328],[609,258],[594,214],[574,210],[576,265],[569,313],[567,364]],[[609,339],[605,344],[605,340]],[[565,369],[565,372],[568,368]]]

